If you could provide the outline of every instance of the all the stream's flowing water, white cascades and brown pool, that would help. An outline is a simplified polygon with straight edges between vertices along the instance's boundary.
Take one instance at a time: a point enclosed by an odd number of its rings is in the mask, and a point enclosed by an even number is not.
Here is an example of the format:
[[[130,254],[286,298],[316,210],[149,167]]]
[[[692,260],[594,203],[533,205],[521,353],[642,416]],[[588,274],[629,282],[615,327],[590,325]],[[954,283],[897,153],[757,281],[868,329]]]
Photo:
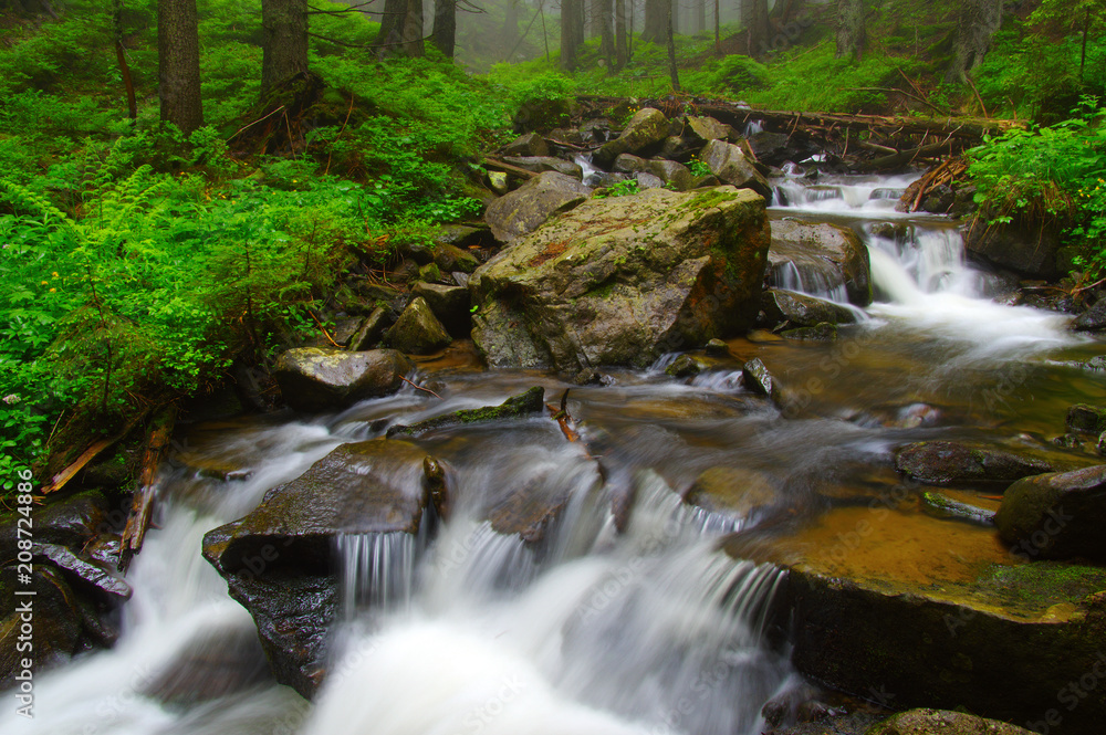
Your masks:
[[[199,556],[204,533],[241,517],[338,444],[378,437],[390,422],[498,403],[535,384],[547,397],[568,386],[540,374],[486,372],[462,354],[422,366],[442,384],[442,401],[405,389],[336,416],[244,421],[197,440],[187,454],[233,465],[234,479],[207,479],[191,460],[167,471],[161,526],[133,565],[136,591],[119,643],[39,678],[36,718],[9,708],[0,728],[761,732],[761,706],[797,682],[785,644],[765,636],[783,573],[727,556],[720,539],[759,528],[785,535],[839,503],[885,492],[897,482],[891,452],[905,442],[1044,441],[1062,432],[1070,403],[1104,398],[1098,378],[1070,365],[1103,350],[1067,332],[1067,317],[993,301],[1001,280],[966,265],[951,223],[894,211],[906,183],[812,183],[793,167],[778,188],[772,217],[845,223],[869,249],[877,303],[838,342],[734,339],[733,358],[692,380],[666,377],[664,361],[612,371],[612,385],[572,388],[583,443],[566,442],[547,418],[420,439],[451,469],[456,505],[434,537],[338,539],[342,619],[313,704],[260,674],[194,701],[150,695],[182,657],[237,650],[227,641],[257,657],[250,616]],[[901,227],[875,227],[887,221]],[[802,276],[786,285],[843,297]],[[783,408],[741,387],[738,360],[752,357],[789,388]],[[718,468],[751,477],[759,502],[685,504],[681,494]],[[519,487],[563,505],[540,543],[497,534],[487,519]]]

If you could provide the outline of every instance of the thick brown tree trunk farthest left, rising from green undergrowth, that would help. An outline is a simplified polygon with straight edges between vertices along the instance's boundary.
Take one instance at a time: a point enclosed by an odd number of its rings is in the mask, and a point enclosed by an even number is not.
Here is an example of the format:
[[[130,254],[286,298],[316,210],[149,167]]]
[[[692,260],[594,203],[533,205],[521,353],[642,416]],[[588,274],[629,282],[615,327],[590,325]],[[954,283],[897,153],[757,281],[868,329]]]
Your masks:
[[[196,0],[158,0],[157,97],[161,119],[188,134],[204,125]]]

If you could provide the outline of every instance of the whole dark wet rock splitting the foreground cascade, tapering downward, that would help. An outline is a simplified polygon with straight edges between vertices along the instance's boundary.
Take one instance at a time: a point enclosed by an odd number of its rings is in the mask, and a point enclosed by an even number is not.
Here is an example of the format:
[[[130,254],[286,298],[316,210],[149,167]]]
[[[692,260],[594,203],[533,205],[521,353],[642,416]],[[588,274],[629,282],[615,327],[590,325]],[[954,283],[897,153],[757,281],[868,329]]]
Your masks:
[[[338,539],[432,531],[428,508],[445,505],[445,486],[440,464],[415,444],[344,444],[208,532],[204,556],[253,616],[276,681],[309,697],[322,681]]]

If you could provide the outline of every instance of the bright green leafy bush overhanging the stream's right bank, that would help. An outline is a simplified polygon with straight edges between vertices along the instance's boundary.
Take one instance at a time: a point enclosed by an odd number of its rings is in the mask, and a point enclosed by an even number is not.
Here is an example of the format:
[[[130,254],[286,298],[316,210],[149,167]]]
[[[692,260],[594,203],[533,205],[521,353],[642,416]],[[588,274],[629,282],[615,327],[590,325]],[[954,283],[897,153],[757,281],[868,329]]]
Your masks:
[[[975,200],[993,221],[1012,214],[1053,219],[1079,265],[1106,271],[1106,109],[1087,98],[1076,116],[1032,130],[1012,129],[971,151]]]

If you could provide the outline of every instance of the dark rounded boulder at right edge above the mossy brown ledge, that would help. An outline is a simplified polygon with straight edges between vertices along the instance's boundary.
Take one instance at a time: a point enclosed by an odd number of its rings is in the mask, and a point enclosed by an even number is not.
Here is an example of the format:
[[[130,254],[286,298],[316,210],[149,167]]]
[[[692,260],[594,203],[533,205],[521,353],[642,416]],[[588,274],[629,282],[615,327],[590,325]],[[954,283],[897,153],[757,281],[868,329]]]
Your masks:
[[[1030,558],[1106,560],[1106,465],[1019,480],[1006,489],[994,525]]]

